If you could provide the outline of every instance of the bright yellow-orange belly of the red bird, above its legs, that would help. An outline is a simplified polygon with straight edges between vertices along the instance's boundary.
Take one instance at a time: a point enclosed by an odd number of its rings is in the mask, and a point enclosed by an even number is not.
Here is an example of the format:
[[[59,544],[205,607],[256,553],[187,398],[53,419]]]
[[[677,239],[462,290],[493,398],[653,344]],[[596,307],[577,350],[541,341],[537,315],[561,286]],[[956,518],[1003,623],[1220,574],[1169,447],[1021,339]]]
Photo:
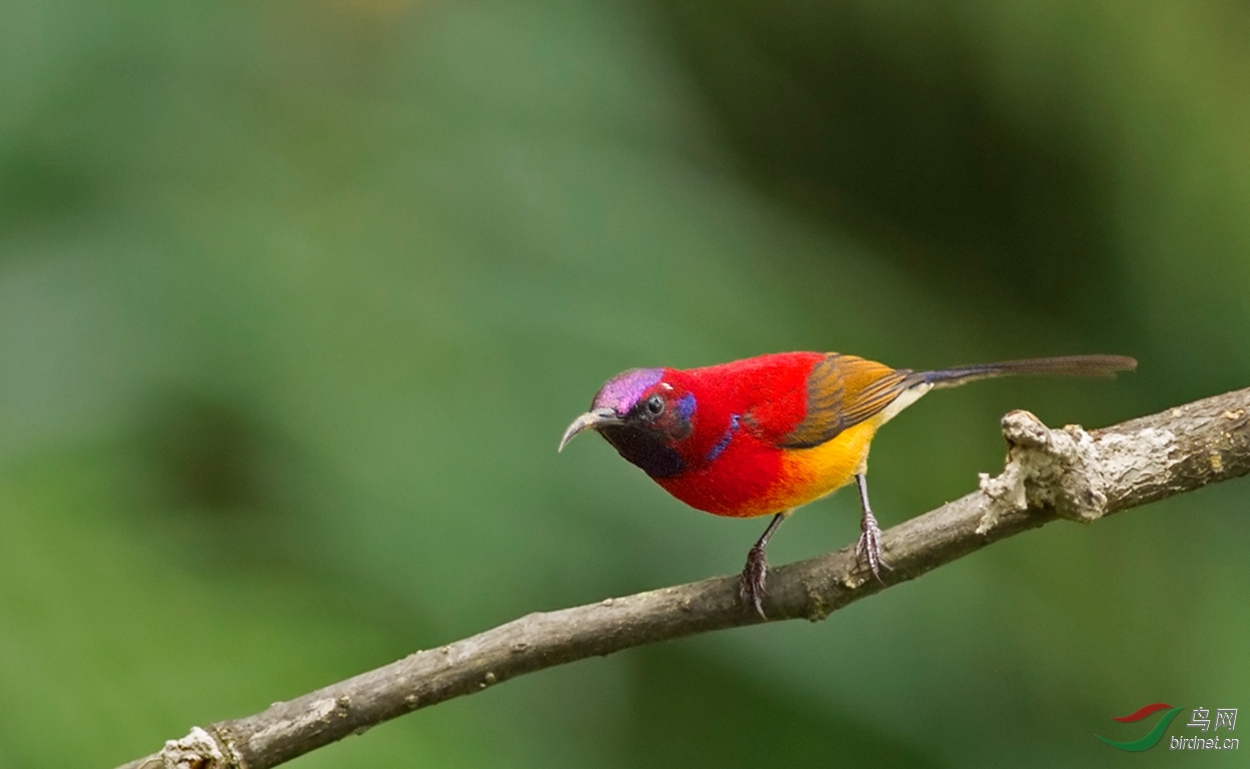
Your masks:
[[[869,419],[819,446],[785,450],[766,506],[774,513],[789,510],[849,484],[865,466],[869,444],[880,425],[879,419]]]

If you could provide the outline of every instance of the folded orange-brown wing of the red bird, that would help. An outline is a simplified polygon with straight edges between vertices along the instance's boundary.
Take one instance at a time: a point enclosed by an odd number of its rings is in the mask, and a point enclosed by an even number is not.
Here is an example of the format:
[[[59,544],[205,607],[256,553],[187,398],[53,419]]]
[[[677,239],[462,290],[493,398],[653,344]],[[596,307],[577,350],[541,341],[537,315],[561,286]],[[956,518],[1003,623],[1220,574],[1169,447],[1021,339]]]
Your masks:
[[[808,411],[802,421],[778,444],[810,449],[880,414],[910,386],[909,369],[830,353],[808,375]]]

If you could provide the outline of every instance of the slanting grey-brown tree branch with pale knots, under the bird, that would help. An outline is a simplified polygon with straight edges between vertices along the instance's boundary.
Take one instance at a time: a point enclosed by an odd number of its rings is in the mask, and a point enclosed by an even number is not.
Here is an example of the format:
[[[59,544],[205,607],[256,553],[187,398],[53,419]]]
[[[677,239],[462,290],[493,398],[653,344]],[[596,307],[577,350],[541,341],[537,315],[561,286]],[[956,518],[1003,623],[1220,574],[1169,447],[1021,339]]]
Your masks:
[[[1250,473],[1250,389],[1101,430],[1051,430],[1028,411],[1002,418],[1009,454],[981,489],[888,530],[885,583],[858,570],[854,548],[769,574],[770,620],[819,620],[1000,539],[1058,518],[1091,523]],[[535,613],[418,651],[235,720],[196,726],[122,769],[268,769],[385,720],[510,678],[652,641],[764,621],[738,576]]]

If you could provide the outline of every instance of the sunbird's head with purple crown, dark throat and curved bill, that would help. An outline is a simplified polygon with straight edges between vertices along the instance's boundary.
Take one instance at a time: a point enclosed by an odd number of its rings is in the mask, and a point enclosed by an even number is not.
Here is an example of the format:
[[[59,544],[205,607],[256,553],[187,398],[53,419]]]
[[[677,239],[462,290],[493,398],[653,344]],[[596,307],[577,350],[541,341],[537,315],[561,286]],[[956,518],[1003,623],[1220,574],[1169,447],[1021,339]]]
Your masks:
[[[621,456],[651,478],[685,468],[675,445],[690,435],[695,396],[665,380],[665,369],[630,369],[608,380],[590,410],[572,420],[560,449],[584,430],[596,430]]]

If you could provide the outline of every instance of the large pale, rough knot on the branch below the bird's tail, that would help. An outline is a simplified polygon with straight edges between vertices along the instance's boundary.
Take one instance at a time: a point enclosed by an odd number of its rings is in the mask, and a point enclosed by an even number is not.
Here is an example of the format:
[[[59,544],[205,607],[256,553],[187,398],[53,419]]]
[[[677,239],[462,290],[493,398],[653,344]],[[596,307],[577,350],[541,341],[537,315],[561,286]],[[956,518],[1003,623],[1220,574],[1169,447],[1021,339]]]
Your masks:
[[[1002,515],[1042,508],[1060,518],[1091,523],[1108,509],[1108,481],[1099,443],[1080,425],[1052,430],[1029,411],[1002,418],[1008,463],[996,478],[981,474],[989,498],[978,534],[985,534]]]

